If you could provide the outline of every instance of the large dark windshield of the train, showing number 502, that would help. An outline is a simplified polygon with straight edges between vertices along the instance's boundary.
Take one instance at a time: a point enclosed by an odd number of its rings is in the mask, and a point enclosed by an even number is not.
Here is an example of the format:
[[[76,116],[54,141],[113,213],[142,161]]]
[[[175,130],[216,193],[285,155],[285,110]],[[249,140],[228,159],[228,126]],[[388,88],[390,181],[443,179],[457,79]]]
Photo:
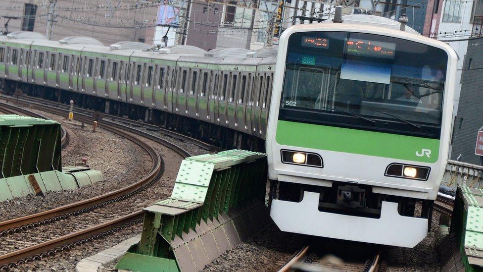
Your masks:
[[[279,119],[439,138],[447,59],[392,37],[294,33]]]

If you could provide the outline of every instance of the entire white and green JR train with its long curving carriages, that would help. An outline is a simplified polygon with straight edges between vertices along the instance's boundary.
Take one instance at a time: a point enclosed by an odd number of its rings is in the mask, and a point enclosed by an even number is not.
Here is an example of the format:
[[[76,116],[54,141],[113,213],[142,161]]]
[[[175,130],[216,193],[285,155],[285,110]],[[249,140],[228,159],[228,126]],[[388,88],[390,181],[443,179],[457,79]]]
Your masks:
[[[0,38],[0,79],[225,147],[265,140],[282,230],[413,247],[448,158],[456,54],[387,18],[336,21],[290,27],[278,53],[13,33]]]

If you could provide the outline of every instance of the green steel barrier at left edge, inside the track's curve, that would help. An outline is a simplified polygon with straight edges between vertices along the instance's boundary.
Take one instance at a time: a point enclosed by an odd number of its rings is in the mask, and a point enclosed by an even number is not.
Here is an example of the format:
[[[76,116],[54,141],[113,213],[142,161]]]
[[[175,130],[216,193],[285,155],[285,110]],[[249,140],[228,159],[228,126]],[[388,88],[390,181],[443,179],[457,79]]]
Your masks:
[[[62,168],[60,124],[0,115],[0,201],[80,188],[103,180],[89,167]]]

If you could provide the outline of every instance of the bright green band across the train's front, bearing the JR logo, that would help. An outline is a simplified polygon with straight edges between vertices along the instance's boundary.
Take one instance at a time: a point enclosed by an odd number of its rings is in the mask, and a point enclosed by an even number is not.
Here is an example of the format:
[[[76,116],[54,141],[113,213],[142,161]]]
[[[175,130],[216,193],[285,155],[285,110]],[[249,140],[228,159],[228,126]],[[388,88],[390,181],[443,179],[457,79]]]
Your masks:
[[[421,163],[435,163],[439,140],[324,125],[279,120],[275,140],[280,145],[377,156]],[[422,149],[430,158],[418,157]]]

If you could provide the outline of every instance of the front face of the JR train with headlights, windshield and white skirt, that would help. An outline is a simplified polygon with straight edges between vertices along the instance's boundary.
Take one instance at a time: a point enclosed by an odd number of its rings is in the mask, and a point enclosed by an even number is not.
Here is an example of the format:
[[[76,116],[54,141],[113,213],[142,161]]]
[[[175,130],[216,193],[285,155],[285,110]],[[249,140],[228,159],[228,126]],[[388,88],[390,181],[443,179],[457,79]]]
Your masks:
[[[446,44],[381,17],[287,29],[266,141],[280,229],[423,240],[448,158],[456,61]]]

